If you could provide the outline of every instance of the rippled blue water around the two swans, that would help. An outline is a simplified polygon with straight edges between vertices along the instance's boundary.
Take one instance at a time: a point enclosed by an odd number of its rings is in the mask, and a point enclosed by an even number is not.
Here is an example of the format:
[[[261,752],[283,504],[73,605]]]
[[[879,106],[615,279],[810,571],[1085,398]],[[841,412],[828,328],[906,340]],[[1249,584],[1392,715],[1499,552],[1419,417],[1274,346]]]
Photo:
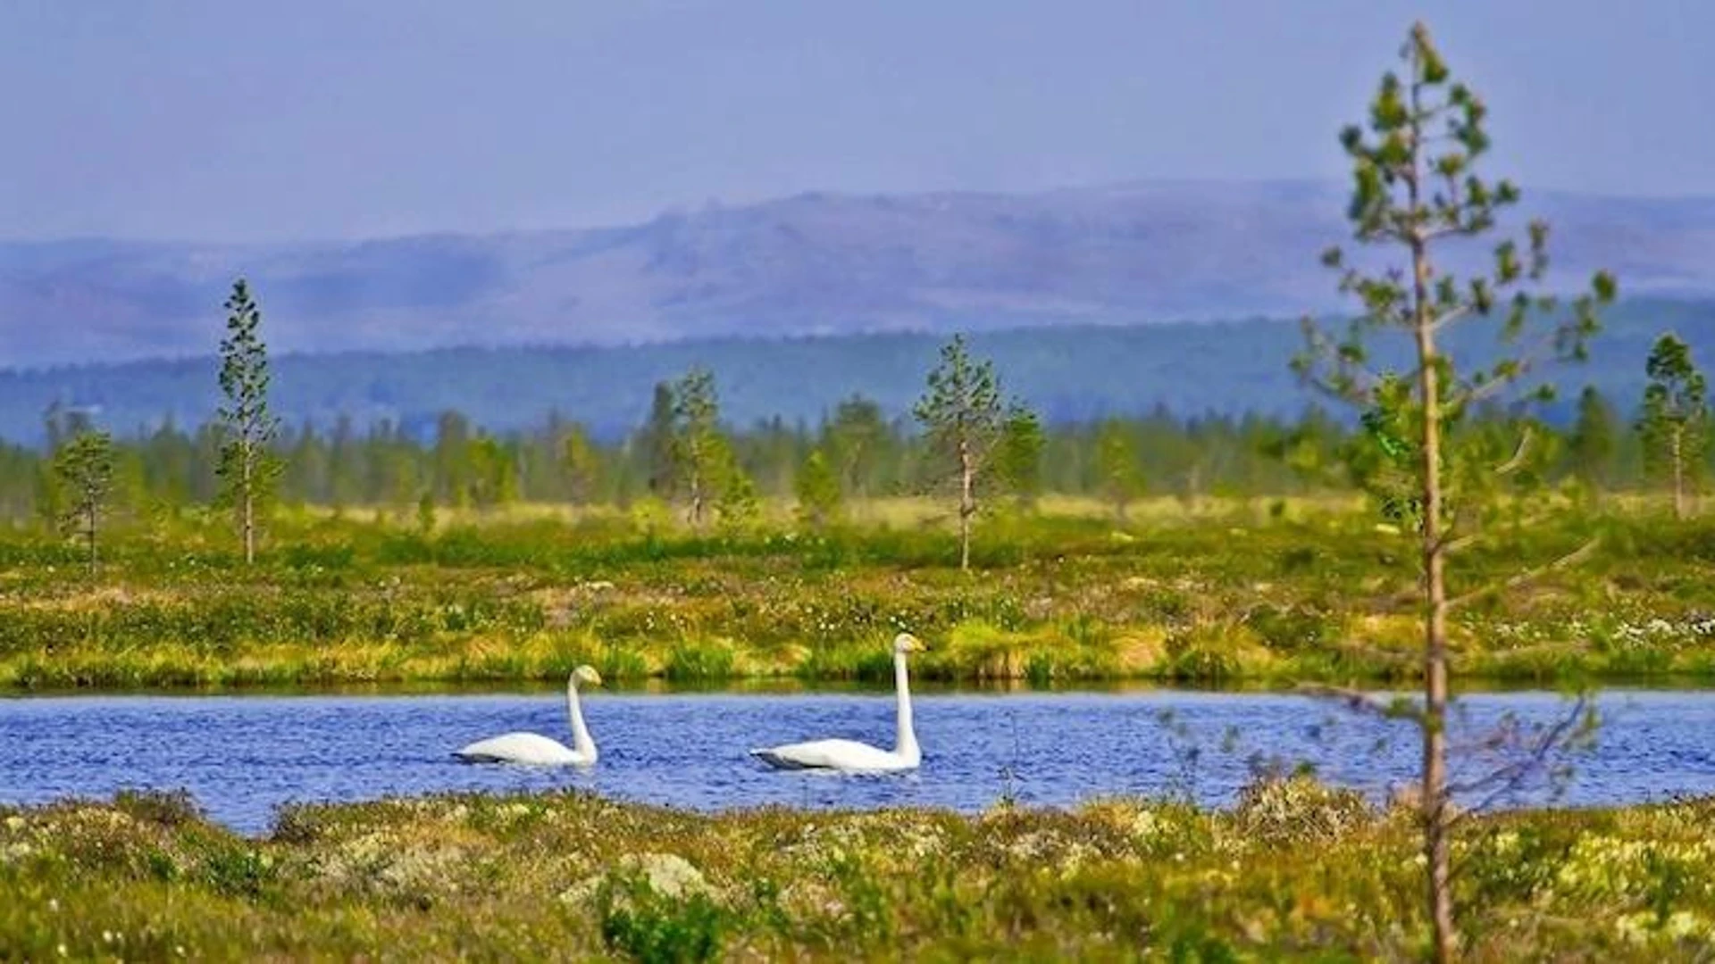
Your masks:
[[[1595,746],[1562,760],[1564,786],[1538,777],[1495,803],[1715,792],[1715,693],[1607,691],[1597,703]],[[1568,707],[1549,693],[1483,693],[1461,705],[1470,719],[1453,727],[1456,741],[1492,732],[1502,714],[1547,722]],[[1225,804],[1269,758],[1381,796],[1418,762],[1408,722],[1279,693],[919,695],[923,768],[894,777],[773,772],[744,753],[828,736],[892,746],[890,693],[593,693],[585,715],[600,763],[530,770],[460,763],[451,751],[516,729],[569,743],[552,693],[0,698],[0,803],[187,789],[214,820],[259,834],[290,801],[437,791],[580,787],[691,808],[981,810],[1003,796],[1070,804],[1104,794]]]

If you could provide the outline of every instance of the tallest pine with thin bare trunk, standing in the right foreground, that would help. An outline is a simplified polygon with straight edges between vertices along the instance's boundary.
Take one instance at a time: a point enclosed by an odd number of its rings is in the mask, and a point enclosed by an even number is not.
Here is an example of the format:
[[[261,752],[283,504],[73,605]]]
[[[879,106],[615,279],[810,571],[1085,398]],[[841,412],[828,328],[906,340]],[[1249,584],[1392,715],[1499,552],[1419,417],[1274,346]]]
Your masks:
[[[1339,271],[1339,290],[1353,295],[1360,310],[1345,334],[1307,321],[1305,352],[1293,367],[1357,405],[1365,413],[1367,437],[1384,449],[1384,467],[1403,468],[1411,484],[1410,497],[1398,508],[1420,545],[1423,705],[1415,715],[1423,739],[1418,804],[1425,902],[1434,959],[1449,961],[1458,937],[1446,726],[1447,616],[1463,599],[1447,592],[1447,559],[1461,539],[1453,532],[1449,511],[1449,496],[1461,494],[1447,487],[1454,477],[1477,473],[1459,472],[1461,453],[1447,443],[1475,407],[1516,393],[1542,357],[1581,358],[1585,340],[1597,329],[1597,307],[1614,297],[1614,280],[1597,274],[1590,293],[1566,316],[1554,314],[1549,298],[1526,293],[1525,283],[1540,281],[1547,269],[1549,228],[1542,221],[1530,225],[1523,249],[1513,240],[1497,244],[1485,274],[1459,281],[1444,269],[1439,254],[1446,242],[1492,233],[1497,214],[1519,194],[1511,182],[1489,182],[1477,173],[1489,149],[1487,110],[1470,87],[1453,81],[1422,24],[1411,29],[1401,60],[1399,74],[1382,75],[1369,124],[1341,134],[1353,172],[1346,211],[1353,237],[1381,254],[1365,266],[1346,266],[1339,249],[1324,254],[1324,264]],[[1459,321],[1490,319],[1499,321],[1499,360],[1461,369],[1444,350],[1442,334]],[[1521,345],[1526,334],[1530,340]],[[1370,367],[1372,343],[1387,336],[1411,346],[1411,364],[1403,371]]]

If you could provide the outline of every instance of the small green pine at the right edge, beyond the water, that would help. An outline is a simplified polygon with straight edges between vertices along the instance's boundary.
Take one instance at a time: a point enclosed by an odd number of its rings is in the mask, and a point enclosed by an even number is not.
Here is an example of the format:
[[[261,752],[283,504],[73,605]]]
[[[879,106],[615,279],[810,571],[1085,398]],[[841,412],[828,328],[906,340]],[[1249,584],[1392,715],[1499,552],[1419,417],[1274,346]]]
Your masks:
[[[1643,437],[1643,465],[1652,479],[1665,479],[1674,491],[1674,516],[1686,518],[1691,494],[1703,480],[1708,448],[1708,391],[1703,372],[1691,360],[1691,348],[1674,334],[1655,341],[1645,374],[1643,413],[1638,434]]]

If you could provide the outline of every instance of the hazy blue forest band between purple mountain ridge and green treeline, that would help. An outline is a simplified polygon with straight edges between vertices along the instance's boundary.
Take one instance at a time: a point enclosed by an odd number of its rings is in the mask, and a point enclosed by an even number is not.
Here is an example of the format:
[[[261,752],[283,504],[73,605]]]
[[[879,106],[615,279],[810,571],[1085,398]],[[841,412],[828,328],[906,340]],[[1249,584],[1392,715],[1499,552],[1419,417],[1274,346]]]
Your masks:
[[[1604,333],[1592,341],[1592,364],[1545,372],[1561,388],[1549,419],[1568,422],[1571,400],[1586,384],[1629,412],[1643,393],[1650,343],[1662,331],[1689,341],[1703,367],[1715,364],[1706,355],[1715,302],[1628,300],[1605,314]],[[218,336],[211,312],[211,355]],[[1478,360],[1487,338],[1483,326],[1456,329],[1453,352]],[[442,415],[458,412],[499,436],[561,419],[614,444],[647,417],[655,384],[703,365],[720,384],[729,425],[779,420],[811,432],[854,395],[873,400],[890,420],[909,413],[943,341],[930,333],[876,333],[281,355],[273,362],[271,407],[297,431],[312,425],[322,434],[341,420],[346,431],[386,424],[389,434],[427,444]],[[1300,346],[1298,324],[1288,319],[1024,328],[976,333],[971,345],[993,358],[1010,395],[1058,427],[1151,413],[1290,420],[1315,401],[1288,371]],[[118,437],[147,437],[163,425],[196,427],[218,403],[214,372],[213,357],[0,372],[0,437],[41,446],[43,415],[53,405],[84,410]]]

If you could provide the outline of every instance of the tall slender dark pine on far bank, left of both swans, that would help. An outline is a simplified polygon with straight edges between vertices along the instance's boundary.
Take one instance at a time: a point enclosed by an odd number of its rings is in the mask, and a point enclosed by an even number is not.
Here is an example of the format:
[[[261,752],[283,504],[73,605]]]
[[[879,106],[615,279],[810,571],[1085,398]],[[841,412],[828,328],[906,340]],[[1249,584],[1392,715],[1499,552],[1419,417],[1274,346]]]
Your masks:
[[[233,281],[226,298],[226,338],[220,343],[220,389],[225,403],[218,410],[221,497],[238,516],[244,537],[244,561],[256,561],[259,513],[273,494],[281,463],[271,446],[280,434],[280,420],[268,412],[268,346],[262,343],[262,312],[250,297],[244,278]]]

